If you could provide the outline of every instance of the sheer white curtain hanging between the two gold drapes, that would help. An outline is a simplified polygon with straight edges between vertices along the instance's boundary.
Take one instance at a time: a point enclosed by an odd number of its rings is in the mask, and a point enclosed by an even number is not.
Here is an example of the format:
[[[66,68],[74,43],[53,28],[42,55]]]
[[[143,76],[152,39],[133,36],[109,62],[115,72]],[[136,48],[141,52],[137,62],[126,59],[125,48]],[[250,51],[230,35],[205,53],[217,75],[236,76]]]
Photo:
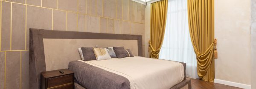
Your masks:
[[[166,20],[159,58],[184,62],[187,77],[199,78],[197,60],[189,35],[187,0],[169,0]]]

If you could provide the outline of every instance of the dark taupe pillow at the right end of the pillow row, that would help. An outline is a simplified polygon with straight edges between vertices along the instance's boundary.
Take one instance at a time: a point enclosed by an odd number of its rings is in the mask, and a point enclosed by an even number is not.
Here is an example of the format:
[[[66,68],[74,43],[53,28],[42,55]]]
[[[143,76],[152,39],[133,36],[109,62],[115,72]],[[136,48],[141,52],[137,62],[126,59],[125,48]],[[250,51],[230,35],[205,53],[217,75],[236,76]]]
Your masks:
[[[120,49],[120,50],[114,50],[116,53],[117,58],[125,58],[125,57],[133,57],[134,55],[131,53],[130,49]]]

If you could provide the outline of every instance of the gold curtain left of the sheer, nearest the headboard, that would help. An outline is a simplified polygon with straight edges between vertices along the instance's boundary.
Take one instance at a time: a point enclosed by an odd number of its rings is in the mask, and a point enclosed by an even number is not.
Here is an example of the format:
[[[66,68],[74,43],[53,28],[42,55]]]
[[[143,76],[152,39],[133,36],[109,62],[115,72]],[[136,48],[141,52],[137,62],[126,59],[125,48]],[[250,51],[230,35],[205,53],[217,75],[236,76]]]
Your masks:
[[[150,57],[158,58],[166,27],[168,0],[151,3],[150,19]]]

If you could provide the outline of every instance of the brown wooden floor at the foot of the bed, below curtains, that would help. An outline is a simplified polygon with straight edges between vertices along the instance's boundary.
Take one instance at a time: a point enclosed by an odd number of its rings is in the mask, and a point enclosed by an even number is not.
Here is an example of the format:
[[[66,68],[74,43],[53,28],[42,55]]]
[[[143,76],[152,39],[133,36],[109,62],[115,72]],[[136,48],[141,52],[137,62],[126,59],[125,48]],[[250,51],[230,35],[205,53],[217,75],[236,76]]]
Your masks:
[[[219,83],[206,82],[200,79],[191,79],[192,89],[241,89]]]

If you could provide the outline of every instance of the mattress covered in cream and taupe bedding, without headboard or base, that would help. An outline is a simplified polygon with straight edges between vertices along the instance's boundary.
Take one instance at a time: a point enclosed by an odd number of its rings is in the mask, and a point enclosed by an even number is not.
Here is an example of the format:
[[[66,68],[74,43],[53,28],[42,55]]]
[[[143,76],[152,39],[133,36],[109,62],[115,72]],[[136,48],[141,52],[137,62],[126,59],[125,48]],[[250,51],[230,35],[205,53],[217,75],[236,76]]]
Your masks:
[[[87,89],[170,89],[185,78],[179,62],[138,56],[71,61],[69,69]]]

